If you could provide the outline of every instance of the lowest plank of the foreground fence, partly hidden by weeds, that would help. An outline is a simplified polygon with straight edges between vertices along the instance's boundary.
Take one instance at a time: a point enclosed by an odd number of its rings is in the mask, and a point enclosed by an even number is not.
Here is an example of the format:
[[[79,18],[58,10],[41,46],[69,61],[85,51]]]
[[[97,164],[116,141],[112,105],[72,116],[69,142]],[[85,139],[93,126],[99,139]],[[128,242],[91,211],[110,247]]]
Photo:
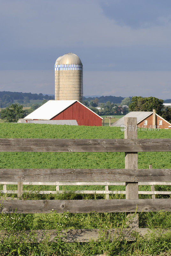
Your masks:
[[[147,234],[154,234],[159,236],[161,233],[170,233],[171,229],[149,229],[149,228],[112,228],[107,230],[100,229],[69,229],[62,230],[59,232],[56,229],[41,229],[41,230],[25,230],[25,231],[14,231],[10,232],[6,230],[0,230],[0,241],[3,242],[4,238],[10,236],[15,237],[16,242],[22,243],[41,243],[43,241],[56,242],[56,237],[65,241],[66,243],[74,242],[89,242],[91,239],[94,241],[100,240],[100,234],[105,234],[106,239],[112,240],[114,237],[119,240],[135,241],[136,234],[139,236],[146,236]],[[147,237],[148,239],[148,237]]]

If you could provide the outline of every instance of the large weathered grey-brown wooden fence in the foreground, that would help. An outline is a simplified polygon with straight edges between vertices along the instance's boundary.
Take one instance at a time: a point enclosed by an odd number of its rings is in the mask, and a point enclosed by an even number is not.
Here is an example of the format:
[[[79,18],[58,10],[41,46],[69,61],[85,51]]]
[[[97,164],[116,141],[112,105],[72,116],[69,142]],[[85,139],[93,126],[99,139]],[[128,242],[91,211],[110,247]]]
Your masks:
[[[125,152],[125,169],[0,169],[0,181],[125,182],[126,199],[0,200],[0,212],[50,213],[52,209],[58,213],[137,212],[130,228],[110,229],[107,234],[110,231],[112,236],[118,236],[122,232],[127,240],[133,240],[132,231],[145,235],[148,229],[138,228],[138,212],[170,212],[171,199],[138,199],[138,182],[171,182],[171,169],[138,169],[138,152],[171,151],[171,139],[137,139],[137,118],[125,117],[125,126],[125,139],[0,139],[1,152]],[[27,230],[25,233],[35,233],[40,242],[46,234],[52,241],[57,231]],[[97,240],[99,236],[98,229],[63,230],[62,234],[66,242]]]

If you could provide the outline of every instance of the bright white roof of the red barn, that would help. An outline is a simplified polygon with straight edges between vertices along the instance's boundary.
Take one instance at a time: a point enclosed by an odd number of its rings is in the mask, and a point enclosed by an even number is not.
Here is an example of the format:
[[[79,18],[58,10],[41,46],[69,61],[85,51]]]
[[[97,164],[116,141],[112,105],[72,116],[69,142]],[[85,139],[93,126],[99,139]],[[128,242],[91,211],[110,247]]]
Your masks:
[[[79,101],[78,100],[49,100],[45,104],[43,104],[41,107],[37,108],[32,113],[30,113],[28,116],[24,117],[24,119],[25,120],[28,120],[28,119],[50,120],[51,118],[58,115],[66,108],[70,107],[75,102],[79,102]],[[79,104],[83,105],[81,102],[79,102]],[[87,108],[85,105],[83,106]],[[92,111],[91,109],[89,110]],[[95,112],[93,113],[96,116],[99,116]],[[101,116],[99,117],[103,119]]]

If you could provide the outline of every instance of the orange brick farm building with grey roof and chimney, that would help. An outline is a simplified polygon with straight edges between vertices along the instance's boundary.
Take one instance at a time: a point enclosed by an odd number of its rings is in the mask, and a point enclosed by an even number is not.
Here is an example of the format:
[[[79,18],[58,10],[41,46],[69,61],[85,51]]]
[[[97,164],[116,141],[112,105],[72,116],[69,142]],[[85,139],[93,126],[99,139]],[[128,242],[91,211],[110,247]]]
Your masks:
[[[120,118],[111,126],[123,126],[124,117],[137,117],[137,126],[138,127],[147,127],[147,128],[160,128],[160,129],[171,129],[171,124],[167,122],[164,118],[156,114],[155,110],[153,112],[147,111],[132,111],[127,115]]]

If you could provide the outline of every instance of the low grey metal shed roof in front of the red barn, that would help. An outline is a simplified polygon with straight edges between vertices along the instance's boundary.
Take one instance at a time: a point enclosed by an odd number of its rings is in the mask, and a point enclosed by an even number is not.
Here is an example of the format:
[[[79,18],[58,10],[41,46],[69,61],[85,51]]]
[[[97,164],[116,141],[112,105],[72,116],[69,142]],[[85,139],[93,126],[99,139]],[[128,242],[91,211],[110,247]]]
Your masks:
[[[61,124],[78,125],[76,120],[27,120],[26,124]]]

